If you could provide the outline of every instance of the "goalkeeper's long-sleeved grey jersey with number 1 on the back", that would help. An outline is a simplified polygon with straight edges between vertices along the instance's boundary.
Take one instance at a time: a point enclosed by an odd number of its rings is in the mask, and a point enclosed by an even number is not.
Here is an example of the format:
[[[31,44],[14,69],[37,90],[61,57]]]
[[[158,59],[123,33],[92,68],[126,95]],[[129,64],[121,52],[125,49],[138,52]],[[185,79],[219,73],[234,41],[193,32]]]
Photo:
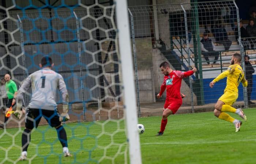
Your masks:
[[[57,108],[56,92],[60,90],[62,94],[63,104],[68,103],[68,91],[63,77],[51,69],[41,69],[23,82],[18,90],[18,102],[23,97],[23,93],[31,86],[32,96],[29,102],[29,108],[54,110]]]

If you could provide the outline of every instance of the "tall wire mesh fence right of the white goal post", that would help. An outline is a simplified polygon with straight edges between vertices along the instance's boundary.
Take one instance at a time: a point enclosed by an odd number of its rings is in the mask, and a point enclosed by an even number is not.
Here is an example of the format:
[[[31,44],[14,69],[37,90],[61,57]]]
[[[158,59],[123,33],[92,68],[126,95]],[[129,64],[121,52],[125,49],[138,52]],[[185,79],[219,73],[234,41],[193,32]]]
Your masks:
[[[159,70],[163,61],[169,62],[174,70],[198,69],[191,78],[182,81],[181,87],[186,97],[180,113],[193,113],[214,109],[226,79],[214,88],[210,88],[209,83],[227,69],[231,55],[248,54],[254,59],[256,54],[254,38],[242,39],[248,44],[241,42],[238,7],[234,1],[136,6],[129,7],[129,14],[139,116],[162,111],[165,97],[156,99],[155,96],[163,80]],[[246,24],[243,26],[246,28]],[[255,64],[253,60],[250,62]],[[242,68],[245,70],[244,58]],[[240,85],[234,106],[248,108],[248,101],[244,101],[246,92]],[[252,101],[255,96],[255,87],[252,87]],[[249,105],[253,102],[249,101]]]

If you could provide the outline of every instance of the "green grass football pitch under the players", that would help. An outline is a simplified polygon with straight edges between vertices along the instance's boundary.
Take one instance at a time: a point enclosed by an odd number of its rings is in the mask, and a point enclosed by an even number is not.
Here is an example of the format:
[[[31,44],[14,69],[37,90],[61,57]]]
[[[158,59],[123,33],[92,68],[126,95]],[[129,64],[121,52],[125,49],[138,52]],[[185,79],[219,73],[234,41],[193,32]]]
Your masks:
[[[212,112],[169,116],[163,136],[155,136],[161,117],[140,118],[139,123],[146,129],[140,135],[143,164],[254,164],[256,109],[246,109],[244,112],[248,121],[243,122],[237,133],[234,132],[233,124],[219,120]],[[240,118],[236,114],[230,115]],[[28,157],[33,158],[31,163],[92,164],[98,163],[102,156],[106,157],[101,161],[102,164],[124,163],[128,152],[127,145],[123,144],[126,141],[124,121],[72,123],[65,124],[64,127],[68,135],[69,151],[74,156],[63,157],[55,129],[39,126],[32,133],[32,144],[28,149]],[[4,130],[0,130],[2,163],[12,163],[5,160],[5,156],[11,160],[18,159],[22,130],[23,128],[7,129],[8,134],[4,135]],[[102,131],[104,133],[99,136]],[[25,164],[29,161],[18,163]]]

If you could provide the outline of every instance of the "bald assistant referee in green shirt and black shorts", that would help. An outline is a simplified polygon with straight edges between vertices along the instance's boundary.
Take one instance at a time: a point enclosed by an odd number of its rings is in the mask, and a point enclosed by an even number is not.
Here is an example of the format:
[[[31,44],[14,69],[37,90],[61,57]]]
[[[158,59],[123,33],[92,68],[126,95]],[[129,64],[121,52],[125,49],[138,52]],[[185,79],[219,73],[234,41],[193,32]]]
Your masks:
[[[17,95],[17,85],[14,81],[11,80],[11,76],[9,74],[4,75],[5,79],[5,89],[7,92],[7,97],[8,97],[8,103],[7,103],[7,108],[10,108],[12,105],[15,105],[15,98]],[[5,113],[7,110],[5,110]],[[9,117],[5,117],[4,115],[4,124],[0,125],[0,128],[6,128],[5,122],[8,121]]]

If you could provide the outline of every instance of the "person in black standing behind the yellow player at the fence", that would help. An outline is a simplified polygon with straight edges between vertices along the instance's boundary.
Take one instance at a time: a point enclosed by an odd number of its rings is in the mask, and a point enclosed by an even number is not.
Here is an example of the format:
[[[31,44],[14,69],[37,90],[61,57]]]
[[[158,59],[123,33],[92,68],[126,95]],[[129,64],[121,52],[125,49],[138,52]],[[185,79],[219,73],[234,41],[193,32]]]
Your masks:
[[[252,67],[251,63],[249,62],[250,56],[244,55],[245,60],[245,79],[248,81],[247,85],[247,97],[248,97],[248,104],[255,104],[251,101],[251,94],[252,94],[252,74],[255,72],[254,68]]]

